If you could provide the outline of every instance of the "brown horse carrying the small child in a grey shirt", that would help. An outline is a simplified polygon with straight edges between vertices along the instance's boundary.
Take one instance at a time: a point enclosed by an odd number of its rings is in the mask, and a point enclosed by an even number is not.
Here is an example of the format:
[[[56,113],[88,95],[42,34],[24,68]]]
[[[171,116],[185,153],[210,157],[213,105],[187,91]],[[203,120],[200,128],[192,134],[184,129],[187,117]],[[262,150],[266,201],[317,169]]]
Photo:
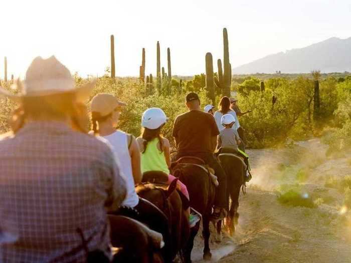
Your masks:
[[[235,232],[235,225],[239,220],[239,195],[240,188],[244,184],[246,164],[243,159],[232,153],[220,153],[218,155],[226,175],[227,175],[227,210],[226,224],[230,235]],[[231,202],[230,202],[231,201]],[[231,204],[230,204],[231,203]],[[229,208],[230,205],[230,208]],[[221,241],[222,220],[217,222],[217,240]]]

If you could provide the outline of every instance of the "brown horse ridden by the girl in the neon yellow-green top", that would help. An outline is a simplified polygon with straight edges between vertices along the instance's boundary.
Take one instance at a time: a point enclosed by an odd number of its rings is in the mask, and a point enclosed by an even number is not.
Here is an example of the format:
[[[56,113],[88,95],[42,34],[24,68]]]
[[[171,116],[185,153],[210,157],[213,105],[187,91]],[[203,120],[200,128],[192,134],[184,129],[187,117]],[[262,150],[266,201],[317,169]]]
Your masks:
[[[159,172],[154,173],[157,177]],[[171,259],[182,251],[190,234],[189,213],[186,210],[189,202],[182,199],[182,195],[175,191],[176,188],[177,180],[174,180],[169,186],[146,183],[138,185],[135,189],[140,197],[156,205],[168,218],[171,243],[166,245],[170,247]]]

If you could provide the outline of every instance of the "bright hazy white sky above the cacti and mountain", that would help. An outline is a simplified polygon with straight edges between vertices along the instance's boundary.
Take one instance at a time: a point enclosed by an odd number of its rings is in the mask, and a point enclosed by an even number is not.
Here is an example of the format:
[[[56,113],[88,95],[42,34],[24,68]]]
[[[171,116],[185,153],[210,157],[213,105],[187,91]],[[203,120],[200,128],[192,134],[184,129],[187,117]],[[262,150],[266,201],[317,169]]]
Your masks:
[[[102,75],[115,36],[117,76],[137,76],[141,49],[146,74],[156,71],[156,42],[172,74],[205,72],[205,54],[223,57],[229,35],[232,67],[330,37],[351,37],[350,0],[4,0],[0,12],[0,78],[24,76],[36,56],[54,54],[72,73]],[[216,70],[216,63],[214,65]]]

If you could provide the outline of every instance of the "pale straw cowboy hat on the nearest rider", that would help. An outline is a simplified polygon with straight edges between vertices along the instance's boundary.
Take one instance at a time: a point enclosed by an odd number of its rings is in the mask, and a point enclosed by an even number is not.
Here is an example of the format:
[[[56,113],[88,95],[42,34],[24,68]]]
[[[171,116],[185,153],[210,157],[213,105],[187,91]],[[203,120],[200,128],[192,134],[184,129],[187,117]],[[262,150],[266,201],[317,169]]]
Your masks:
[[[61,94],[65,92],[75,92],[78,99],[85,99],[89,96],[96,81],[75,88],[75,81],[70,71],[59,62],[54,56],[43,59],[37,57],[32,61],[26,73],[26,80],[22,83],[19,79],[12,86],[18,90],[18,94],[13,94],[0,87],[0,95],[5,95],[15,101],[20,101],[23,97],[41,97]]]

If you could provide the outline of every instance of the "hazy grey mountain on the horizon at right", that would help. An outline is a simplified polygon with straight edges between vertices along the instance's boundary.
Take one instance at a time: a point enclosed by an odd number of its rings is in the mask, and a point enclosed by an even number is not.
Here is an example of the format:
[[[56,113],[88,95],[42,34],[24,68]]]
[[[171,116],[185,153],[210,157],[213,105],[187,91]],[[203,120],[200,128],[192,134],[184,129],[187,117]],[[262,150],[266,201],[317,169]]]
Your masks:
[[[232,70],[233,74],[351,72],[351,38],[330,38],[301,49],[272,54]]]

